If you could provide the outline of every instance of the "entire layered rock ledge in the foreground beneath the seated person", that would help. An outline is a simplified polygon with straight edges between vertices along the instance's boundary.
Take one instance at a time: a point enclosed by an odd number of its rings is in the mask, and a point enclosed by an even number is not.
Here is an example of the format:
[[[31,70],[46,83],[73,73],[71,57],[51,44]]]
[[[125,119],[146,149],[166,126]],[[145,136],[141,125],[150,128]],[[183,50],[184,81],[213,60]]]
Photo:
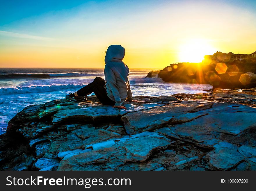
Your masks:
[[[256,170],[256,91],[54,100],[0,135],[1,170]]]

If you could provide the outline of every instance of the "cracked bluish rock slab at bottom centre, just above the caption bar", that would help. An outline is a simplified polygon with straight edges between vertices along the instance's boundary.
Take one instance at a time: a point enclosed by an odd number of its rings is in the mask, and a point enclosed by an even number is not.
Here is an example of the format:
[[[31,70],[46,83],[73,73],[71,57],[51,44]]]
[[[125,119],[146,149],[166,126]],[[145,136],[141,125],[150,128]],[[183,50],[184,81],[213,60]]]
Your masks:
[[[127,162],[143,162],[152,152],[165,149],[170,142],[157,133],[138,135],[126,141],[109,141],[93,151],[61,160],[58,170],[113,170]],[[94,165],[93,165],[94,164]]]

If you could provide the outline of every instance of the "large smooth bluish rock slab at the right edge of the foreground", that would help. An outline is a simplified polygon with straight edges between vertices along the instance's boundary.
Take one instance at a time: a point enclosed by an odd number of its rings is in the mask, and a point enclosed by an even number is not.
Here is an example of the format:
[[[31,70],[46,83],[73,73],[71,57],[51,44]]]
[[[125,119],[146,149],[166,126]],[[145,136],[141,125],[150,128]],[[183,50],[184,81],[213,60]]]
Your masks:
[[[214,103],[212,108],[192,114],[198,117],[156,132],[209,148],[256,124],[256,109],[241,104]]]

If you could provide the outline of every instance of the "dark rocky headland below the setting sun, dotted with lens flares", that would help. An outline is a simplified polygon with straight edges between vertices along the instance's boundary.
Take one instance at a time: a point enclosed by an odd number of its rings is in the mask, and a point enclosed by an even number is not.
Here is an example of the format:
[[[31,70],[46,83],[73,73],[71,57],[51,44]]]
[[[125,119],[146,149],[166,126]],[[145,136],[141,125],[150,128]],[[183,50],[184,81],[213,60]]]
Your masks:
[[[213,88],[255,88],[256,71],[246,68],[252,63],[178,63],[163,70],[152,71],[147,77],[159,77],[165,82],[211,84]],[[256,65],[256,63],[253,63]],[[253,73],[254,72],[254,73]]]

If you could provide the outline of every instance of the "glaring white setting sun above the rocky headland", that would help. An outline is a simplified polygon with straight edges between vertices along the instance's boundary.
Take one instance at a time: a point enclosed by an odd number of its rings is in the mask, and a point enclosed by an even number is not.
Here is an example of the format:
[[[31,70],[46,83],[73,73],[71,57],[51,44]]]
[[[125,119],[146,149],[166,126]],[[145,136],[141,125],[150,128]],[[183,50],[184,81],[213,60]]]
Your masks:
[[[205,55],[212,55],[215,49],[204,39],[187,40],[181,44],[179,62],[202,62]]]

